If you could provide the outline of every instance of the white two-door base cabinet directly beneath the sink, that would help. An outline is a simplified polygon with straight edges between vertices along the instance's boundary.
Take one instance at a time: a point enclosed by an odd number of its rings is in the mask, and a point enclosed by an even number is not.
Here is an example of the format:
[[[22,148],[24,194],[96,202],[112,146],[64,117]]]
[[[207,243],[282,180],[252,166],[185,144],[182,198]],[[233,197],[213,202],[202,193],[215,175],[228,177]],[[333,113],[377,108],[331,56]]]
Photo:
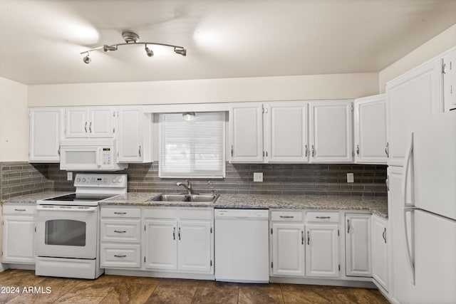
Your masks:
[[[145,268],[214,273],[214,210],[153,207],[144,210]]]

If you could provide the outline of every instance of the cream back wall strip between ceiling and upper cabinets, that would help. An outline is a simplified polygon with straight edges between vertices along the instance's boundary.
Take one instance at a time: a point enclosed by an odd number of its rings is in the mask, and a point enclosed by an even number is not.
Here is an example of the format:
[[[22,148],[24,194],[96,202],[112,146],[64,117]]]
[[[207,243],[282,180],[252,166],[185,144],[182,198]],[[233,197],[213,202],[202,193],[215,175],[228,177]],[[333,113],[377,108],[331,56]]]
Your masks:
[[[28,106],[346,99],[377,93],[377,73],[75,83],[30,85]]]

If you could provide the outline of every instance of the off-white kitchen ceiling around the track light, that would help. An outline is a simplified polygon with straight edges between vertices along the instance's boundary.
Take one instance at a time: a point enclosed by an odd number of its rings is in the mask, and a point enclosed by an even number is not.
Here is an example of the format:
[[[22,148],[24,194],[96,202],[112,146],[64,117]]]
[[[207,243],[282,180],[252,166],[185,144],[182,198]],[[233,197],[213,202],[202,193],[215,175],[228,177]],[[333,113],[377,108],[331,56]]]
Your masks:
[[[456,0],[0,0],[0,76],[28,85],[378,72],[456,23]],[[187,48],[119,46],[140,41]]]

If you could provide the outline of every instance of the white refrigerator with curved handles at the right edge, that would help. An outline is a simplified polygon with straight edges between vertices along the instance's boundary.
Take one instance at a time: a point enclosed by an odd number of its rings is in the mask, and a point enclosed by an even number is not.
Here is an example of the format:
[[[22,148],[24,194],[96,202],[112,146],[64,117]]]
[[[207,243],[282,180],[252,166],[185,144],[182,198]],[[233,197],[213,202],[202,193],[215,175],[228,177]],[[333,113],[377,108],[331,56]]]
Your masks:
[[[393,267],[408,275],[393,278],[401,280],[395,299],[456,303],[456,111],[430,115],[411,126],[409,135],[402,212],[396,215],[403,226],[394,227],[403,244],[393,248],[407,265]]]

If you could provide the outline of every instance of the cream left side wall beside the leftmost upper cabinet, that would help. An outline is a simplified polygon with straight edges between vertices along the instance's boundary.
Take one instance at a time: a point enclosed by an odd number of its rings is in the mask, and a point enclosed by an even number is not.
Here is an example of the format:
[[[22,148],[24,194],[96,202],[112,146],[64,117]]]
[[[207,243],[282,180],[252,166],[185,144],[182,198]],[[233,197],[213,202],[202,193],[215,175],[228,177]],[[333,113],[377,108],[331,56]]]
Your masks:
[[[27,85],[0,77],[0,162],[26,160]]]

